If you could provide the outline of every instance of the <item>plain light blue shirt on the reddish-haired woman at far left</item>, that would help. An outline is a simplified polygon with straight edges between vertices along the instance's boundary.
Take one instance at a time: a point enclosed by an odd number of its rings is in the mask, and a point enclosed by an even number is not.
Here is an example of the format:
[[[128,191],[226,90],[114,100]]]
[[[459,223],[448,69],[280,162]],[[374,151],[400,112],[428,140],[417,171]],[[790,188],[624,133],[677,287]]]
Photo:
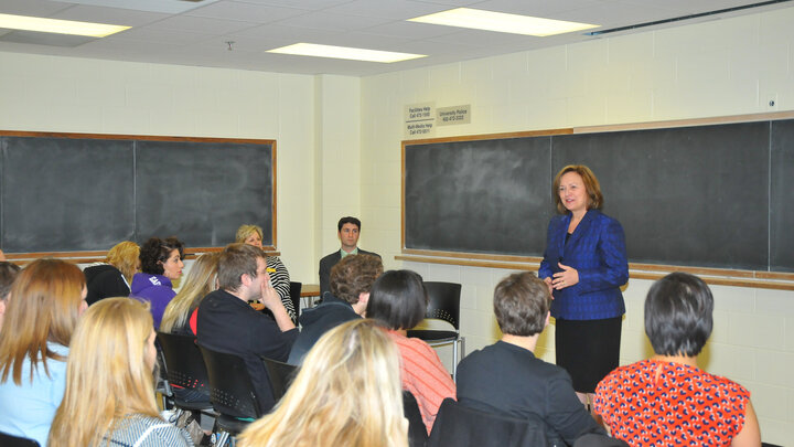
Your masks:
[[[68,355],[68,348],[57,343],[47,342],[47,349]],[[17,386],[10,374],[0,384],[0,432],[35,439],[42,447],[46,446],[52,419],[66,389],[66,362],[47,359],[47,370],[50,376],[39,362],[31,382],[31,363],[25,358],[22,385]]]

